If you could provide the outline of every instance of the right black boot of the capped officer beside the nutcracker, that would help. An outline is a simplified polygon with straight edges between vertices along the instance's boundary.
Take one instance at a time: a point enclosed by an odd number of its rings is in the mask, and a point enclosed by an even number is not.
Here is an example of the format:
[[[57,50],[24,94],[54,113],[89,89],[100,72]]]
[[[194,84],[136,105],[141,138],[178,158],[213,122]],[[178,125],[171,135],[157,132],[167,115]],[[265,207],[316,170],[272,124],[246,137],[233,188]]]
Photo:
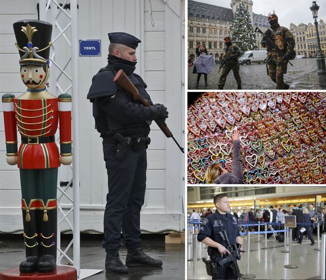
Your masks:
[[[161,260],[154,260],[143,252],[142,248],[128,250],[126,266],[161,266]]]

